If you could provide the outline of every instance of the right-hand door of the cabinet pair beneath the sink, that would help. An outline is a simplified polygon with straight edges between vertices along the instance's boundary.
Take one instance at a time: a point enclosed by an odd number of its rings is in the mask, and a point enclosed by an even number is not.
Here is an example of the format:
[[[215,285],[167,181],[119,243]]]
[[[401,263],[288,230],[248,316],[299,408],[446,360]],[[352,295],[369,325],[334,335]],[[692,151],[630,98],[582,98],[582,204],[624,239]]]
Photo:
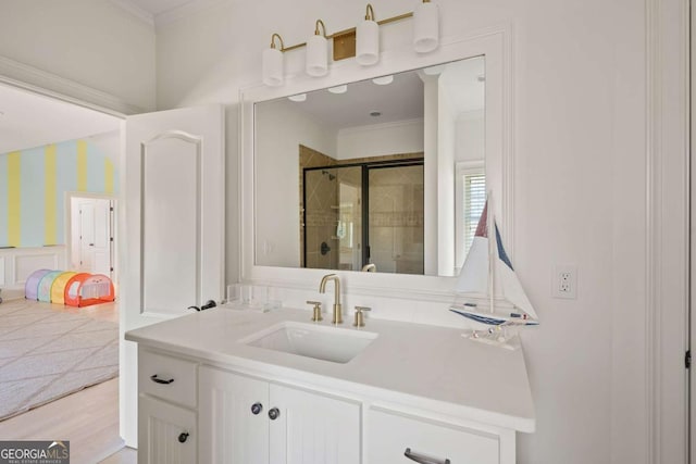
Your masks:
[[[271,385],[273,464],[360,463],[360,403]],[[385,461],[386,462],[386,461]]]

